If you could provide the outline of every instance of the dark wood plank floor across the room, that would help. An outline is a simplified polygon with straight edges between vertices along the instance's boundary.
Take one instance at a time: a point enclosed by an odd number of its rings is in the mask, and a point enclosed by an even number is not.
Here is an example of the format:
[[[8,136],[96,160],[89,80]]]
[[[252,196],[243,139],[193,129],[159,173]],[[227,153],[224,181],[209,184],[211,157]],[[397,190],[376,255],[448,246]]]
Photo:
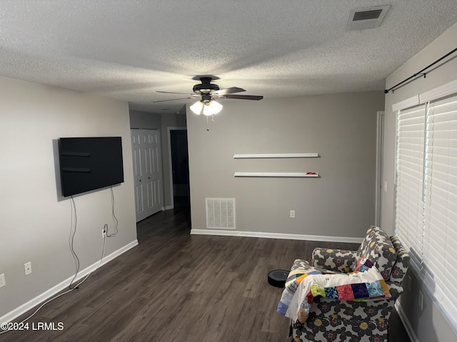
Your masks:
[[[268,284],[268,271],[310,259],[314,247],[357,247],[190,235],[189,207],[137,227],[139,246],[29,320],[63,330],[9,331],[0,341],[288,341],[288,318],[276,313],[281,289]],[[391,341],[409,341],[398,316],[391,326]]]

